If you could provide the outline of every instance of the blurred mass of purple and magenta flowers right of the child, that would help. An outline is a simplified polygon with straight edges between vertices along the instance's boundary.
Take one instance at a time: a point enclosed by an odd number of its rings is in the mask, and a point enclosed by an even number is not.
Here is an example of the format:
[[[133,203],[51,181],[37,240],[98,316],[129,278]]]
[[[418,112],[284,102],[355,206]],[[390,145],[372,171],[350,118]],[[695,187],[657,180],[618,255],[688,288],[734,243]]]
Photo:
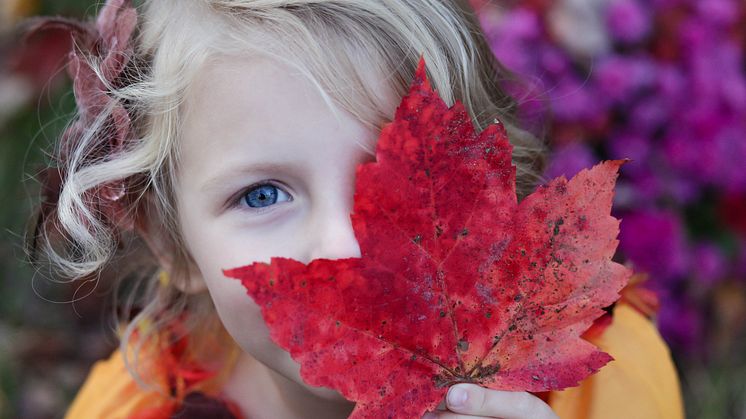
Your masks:
[[[620,250],[649,273],[668,342],[706,355],[715,289],[746,288],[746,5],[514,3],[473,1],[495,55],[525,76],[507,86],[521,117],[548,128],[546,176],[632,159],[615,201]]]

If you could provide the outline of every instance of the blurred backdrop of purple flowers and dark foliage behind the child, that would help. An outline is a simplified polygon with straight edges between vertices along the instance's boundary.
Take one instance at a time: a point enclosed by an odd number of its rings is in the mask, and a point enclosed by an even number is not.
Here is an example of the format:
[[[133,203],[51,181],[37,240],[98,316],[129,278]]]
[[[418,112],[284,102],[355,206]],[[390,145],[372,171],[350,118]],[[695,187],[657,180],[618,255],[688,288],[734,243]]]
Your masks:
[[[545,177],[629,158],[615,196],[619,257],[660,300],[687,416],[746,418],[746,3],[471,0],[516,78],[524,124],[552,147]],[[0,418],[61,417],[116,345],[101,284],[23,263],[44,150],[73,113],[69,38],[21,48],[32,15],[90,0],[0,0]],[[103,283],[102,283],[103,284]]]

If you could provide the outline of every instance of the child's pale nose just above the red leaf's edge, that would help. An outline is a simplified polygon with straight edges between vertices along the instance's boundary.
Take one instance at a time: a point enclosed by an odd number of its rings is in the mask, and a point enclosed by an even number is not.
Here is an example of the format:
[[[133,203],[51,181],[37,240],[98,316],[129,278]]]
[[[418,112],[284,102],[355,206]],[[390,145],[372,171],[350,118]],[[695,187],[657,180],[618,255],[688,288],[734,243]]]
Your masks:
[[[360,257],[360,246],[350,220],[351,205],[326,205],[313,215],[308,261]],[[308,262],[307,261],[307,262]]]

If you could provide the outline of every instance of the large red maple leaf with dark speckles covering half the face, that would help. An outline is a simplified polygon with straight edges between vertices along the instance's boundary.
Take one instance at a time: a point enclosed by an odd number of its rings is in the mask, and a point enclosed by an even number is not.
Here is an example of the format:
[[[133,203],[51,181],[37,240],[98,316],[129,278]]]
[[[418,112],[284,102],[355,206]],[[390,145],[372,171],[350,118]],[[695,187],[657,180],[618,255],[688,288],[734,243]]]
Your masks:
[[[612,358],[580,338],[631,272],[612,262],[623,161],[517,202],[500,124],[477,135],[432,91],[424,60],[376,162],[357,168],[361,258],[226,270],[261,306],[301,376],[357,402],[351,417],[419,418],[459,382],[577,385]]]

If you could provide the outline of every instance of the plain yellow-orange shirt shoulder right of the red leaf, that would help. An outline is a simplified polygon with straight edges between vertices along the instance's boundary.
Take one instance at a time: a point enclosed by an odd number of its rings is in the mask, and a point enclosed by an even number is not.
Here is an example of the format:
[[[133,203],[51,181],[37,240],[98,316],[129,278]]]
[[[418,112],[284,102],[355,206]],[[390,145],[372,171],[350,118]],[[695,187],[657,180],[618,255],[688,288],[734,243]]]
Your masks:
[[[560,418],[684,417],[671,353],[651,320],[619,303],[611,324],[587,339],[614,360],[579,386],[549,393],[547,401]]]

